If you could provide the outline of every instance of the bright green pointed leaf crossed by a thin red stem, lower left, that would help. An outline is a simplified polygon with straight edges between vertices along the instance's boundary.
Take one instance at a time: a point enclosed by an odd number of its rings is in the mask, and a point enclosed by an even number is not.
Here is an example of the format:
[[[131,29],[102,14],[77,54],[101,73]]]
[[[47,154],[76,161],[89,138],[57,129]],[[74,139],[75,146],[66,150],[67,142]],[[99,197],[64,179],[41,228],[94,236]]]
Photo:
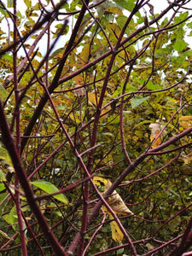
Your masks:
[[[57,189],[54,184],[49,183],[49,182],[44,181],[44,180],[34,181],[31,184],[38,187],[39,189],[44,190],[44,192],[46,192],[48,194],[53,194],[53,193],[59,191],[59,189]],[[67,197],[63,194],[53,195],[53,197],[55,197],[55,199],[65,203],[65,204],[68,203]]]

